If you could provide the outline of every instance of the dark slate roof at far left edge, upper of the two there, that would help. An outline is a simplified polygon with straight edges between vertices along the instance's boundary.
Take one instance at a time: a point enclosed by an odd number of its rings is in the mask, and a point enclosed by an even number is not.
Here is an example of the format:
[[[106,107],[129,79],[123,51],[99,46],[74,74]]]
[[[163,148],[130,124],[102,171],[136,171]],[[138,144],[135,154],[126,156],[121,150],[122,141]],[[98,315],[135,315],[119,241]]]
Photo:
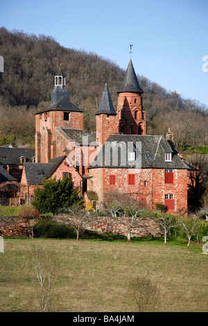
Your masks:
[[[1,164],[22,164],[21,156],[26,157],[26,162],[33,162],[32,158],[35,156],[35,148],[0,147]]]

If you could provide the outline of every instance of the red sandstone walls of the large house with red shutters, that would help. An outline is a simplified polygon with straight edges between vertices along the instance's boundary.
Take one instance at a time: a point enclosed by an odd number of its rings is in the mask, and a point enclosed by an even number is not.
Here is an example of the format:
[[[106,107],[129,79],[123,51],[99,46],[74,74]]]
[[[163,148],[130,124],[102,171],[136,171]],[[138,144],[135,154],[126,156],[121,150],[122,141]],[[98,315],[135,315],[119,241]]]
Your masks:
[[[128,175],[135,174],[135,185],[128,185]],[[138,199],[141,204],[155,209],[155,203],[166,204],[165,194],[173,194],[175,213],[187,210],[187,170],[174,170],[174,183],[165,183],[164,169],[90,169],[93,178],[88,181],[88,190],[94,190],[99,200],[105,193],[119,191]],[[115,185],[110,185],[110,175],[115,175]]]

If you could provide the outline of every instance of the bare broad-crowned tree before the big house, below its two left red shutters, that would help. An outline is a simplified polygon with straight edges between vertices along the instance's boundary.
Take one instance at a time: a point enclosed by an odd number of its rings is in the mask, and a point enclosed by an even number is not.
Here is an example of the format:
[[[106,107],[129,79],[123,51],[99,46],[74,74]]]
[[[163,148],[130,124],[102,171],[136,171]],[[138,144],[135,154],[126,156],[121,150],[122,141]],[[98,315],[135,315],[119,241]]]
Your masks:
[[[127,241],[131,241],[132,228],[137,228],[137,222],[144,212],[139,201],[134,198],[112,192],[105,194],[105,212],[114,219],[116,223],[125,225],[127,231]]]

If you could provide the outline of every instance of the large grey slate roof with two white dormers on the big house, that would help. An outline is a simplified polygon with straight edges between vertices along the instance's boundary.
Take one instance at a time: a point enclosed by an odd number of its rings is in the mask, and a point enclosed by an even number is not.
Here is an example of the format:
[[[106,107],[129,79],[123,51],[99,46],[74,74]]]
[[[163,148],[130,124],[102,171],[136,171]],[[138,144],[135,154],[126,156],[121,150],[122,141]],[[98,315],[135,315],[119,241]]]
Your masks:
[[[135,151],[135,161],[128,160],[128,151]],[[172,153],[171,162],[165,162],[165,153]],[[173,151],[163,136],[121,134],[113,134],[108,137],[88,169],[101,167],[109,169],[190,169]]]

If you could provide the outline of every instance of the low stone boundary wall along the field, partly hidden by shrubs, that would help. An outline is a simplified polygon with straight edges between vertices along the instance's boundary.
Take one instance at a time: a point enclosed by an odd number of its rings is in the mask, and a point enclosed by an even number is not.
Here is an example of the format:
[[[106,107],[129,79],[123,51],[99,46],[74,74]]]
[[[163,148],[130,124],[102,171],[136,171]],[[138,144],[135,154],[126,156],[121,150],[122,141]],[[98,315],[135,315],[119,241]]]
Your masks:
[[[51,218],[53,221],[58,221],[60,223],[67,223],[69,221],[68,216],[51,216],[44,218]],[[24,218],[18,216],[0,216],[0,236],[31,237],[30,226],[33,225],[35,221],[33,219],[28,221],[29,225]],[[106,216],[96,217],[94,223],[89,223],[86,229],[127,236],[125,225],[121,223],[121,220],[119,221],[118,219],[116,220]],[[151,217],[140,218],[137,222],[137,228],[132,228],[131,232],[131,237],[159,237],[160,235],[161,232],[157,218]]]

